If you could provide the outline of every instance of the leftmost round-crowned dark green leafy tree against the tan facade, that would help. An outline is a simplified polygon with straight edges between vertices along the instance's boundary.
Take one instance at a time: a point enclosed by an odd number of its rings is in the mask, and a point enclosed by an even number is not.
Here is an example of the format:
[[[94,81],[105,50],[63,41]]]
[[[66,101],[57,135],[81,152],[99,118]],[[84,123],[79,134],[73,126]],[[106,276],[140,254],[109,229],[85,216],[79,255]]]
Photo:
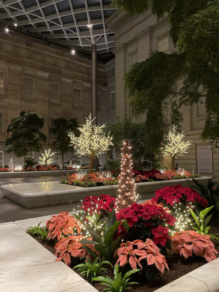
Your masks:
[[[40,131],[44,126],[44,118],[35,112],[20,111],[20,115],[11,119],[7,126],[7,133],[11,137],[5,141],[6,153],[14,153],[17,157],[23,157],[25,168],[25,156],[28,152],[39,152],[41,142],[46,142],[46,135]]]

